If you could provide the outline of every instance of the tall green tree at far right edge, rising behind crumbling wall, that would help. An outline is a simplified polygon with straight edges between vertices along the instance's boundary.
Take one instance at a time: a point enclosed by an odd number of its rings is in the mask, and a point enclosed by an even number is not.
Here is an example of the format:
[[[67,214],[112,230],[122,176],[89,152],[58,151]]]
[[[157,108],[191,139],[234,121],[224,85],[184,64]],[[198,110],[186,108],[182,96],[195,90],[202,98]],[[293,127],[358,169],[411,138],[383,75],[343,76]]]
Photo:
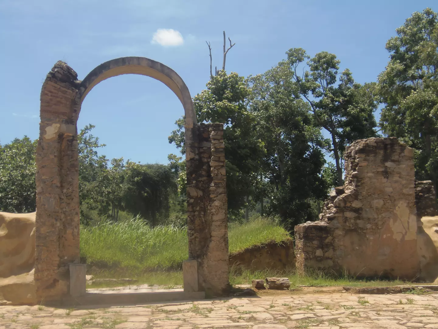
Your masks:
[[[417,179],[438,181],[438,18],[415,12],[386,43],[390,61],[378,77],[380,126],[415,149]]]

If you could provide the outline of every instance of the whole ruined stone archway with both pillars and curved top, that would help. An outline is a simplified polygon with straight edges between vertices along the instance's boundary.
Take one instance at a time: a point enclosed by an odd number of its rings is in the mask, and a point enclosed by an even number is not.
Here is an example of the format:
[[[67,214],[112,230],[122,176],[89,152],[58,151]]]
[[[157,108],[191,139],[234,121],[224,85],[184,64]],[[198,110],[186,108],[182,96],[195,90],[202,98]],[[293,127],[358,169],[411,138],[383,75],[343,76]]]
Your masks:
[[[223,125],[197,124],[189,90],[171,68],[145,57],[121,57],[100,64],[83,81],[59,61],[43,83],[35,176],[37,297],[57,300],[68,293],[69,265],[80,261],[76,123],[81,104],[99,82],[123,74],[163,82],[184,107],[189,238],[184,290],[222,294],[229,288]]]

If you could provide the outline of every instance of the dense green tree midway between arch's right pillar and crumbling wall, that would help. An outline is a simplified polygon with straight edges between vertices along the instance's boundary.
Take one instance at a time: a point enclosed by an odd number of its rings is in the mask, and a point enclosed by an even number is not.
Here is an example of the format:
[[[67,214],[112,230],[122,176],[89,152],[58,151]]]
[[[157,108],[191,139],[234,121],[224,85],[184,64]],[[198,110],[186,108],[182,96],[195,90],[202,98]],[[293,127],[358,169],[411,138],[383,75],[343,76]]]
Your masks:
[[[321,176],[323,138],[309,115],[308,104],[293,95],[293,72],[285,62],[251,77],[251,112],[256,133],[265,145],[260,199],[289,228],[315,219],[311,200],[325,197]],[[265,182],[268,181],[269,185]]]

